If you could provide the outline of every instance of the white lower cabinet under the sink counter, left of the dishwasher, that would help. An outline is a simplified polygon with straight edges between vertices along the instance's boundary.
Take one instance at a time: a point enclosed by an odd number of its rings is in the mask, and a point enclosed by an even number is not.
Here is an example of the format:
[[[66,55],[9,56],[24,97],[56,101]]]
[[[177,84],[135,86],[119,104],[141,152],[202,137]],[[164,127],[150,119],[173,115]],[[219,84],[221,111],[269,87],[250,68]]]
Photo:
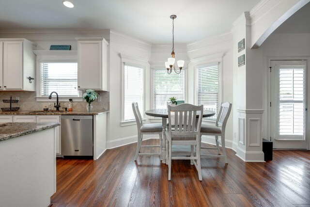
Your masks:
[[[32,123],[43,123],[43,122],[60,122],[60,116],[53,115],[33,115],[33,116],[23,116],[23,115],[15,115],[15,116],[0,116],[0,123],[14,123],[14,122],[32,122]],[[55,127],[56,130],[56,155],[61,155],[61,136],[60,136],[60,127]]]

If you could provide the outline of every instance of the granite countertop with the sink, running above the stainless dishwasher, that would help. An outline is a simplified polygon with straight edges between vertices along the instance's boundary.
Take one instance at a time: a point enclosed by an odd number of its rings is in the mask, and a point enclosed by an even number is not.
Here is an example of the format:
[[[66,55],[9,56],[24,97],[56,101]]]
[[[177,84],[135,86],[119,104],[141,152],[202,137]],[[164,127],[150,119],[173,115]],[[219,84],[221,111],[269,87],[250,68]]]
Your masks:
[[[0,112],[0,115],[98,115],[101,113],[107,113],[109,111],[5,111]]]

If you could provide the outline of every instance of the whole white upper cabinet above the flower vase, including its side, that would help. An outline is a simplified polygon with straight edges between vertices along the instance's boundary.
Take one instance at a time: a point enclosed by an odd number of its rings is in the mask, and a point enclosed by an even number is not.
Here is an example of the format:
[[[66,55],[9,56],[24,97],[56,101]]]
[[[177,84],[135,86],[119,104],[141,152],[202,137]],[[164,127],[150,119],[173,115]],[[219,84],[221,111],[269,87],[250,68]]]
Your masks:
[[[78,41],[78,90],[108,91],[108,45],[104,38]]]

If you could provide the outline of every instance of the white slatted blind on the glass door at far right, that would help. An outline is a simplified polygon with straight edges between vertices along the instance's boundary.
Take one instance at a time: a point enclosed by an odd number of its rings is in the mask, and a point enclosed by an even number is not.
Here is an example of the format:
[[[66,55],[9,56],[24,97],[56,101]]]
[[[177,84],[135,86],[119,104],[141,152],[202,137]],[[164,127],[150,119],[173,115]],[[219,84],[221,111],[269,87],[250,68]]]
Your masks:
[[[279,135],[303,135],[305,87],[303,66],[280,66]]]

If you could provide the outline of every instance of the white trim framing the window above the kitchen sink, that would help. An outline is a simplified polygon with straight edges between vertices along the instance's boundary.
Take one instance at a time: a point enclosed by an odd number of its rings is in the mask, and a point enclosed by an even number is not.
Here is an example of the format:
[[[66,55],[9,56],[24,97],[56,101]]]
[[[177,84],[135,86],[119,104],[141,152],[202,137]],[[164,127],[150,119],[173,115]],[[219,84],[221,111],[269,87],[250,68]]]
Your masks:
[[[41,96],[41,63],[44,62],[77,62],[78,63],[78,52],[77,50],[33,50],[34,54],[36,54],[36,101],[44,101],[44,102],[55,102],[56,96],[52,97],[52,99],[48,99],[48,97]],[[57,92],[57,91],[56,91]],[[83,101],[82,91],[79,92],[80,97],[59,97],[59,101],[68,101],[69,98],[72,98],[73,101]]]

